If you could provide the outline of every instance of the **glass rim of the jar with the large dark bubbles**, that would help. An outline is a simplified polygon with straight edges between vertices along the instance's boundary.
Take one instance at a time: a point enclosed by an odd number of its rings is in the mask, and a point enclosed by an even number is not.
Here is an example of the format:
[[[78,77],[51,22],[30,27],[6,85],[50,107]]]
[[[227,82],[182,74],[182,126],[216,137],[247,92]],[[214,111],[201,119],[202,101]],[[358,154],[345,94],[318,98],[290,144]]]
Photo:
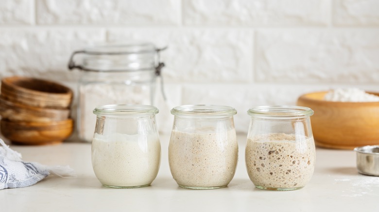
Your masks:
[[[301,118],[310,117],[314,111],[304,106],[257,106],[247,111],[251,117]]]

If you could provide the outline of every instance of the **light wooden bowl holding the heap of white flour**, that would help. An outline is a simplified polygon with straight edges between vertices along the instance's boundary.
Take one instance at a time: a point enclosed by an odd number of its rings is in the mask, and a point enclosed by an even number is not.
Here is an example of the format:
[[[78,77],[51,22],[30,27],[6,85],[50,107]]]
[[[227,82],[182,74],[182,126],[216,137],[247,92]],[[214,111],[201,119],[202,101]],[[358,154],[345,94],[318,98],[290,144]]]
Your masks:
[[[326,93],[307,93],[297,100],[298,106],[314,110],[310,120],[317,146],[352,150],[379,144],[379,102],[330,102],[323,100]]]

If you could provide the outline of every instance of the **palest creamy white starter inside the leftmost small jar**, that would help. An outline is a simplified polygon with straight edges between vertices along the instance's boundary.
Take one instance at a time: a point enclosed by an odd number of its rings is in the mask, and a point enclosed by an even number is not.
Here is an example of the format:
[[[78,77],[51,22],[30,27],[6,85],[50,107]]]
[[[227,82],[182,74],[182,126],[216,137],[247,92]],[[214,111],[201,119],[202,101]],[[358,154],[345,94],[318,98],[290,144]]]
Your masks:
[[[146,138],[95,134],[92,140],[92,167],[103,185],[149,185],[158,173],[159,163],[160,143],[156,135]]]

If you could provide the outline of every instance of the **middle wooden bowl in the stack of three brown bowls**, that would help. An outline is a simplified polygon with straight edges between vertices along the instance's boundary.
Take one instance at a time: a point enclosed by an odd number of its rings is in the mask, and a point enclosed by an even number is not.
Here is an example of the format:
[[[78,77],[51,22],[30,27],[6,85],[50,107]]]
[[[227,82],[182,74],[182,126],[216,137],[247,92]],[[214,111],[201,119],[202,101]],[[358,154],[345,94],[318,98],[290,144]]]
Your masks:
[[[9,121],[63,121],[69,115],[69,109],[25,106],[9,102],[0,96],[0,116]]]

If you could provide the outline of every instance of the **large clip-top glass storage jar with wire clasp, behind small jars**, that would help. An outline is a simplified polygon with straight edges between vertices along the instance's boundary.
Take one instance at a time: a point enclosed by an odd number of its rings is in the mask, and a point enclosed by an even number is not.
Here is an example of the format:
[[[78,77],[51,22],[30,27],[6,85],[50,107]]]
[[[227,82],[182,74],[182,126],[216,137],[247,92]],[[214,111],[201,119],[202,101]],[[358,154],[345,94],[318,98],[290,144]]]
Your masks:
[[[79,138],[92,140],[95,128],[92,110],[96,106],[153,105],[156,77],[164,66],[159,61],[161,50],[150,43],[135,43],[97,45],[72,53],[69,69],[82,70],[76,121]]]

